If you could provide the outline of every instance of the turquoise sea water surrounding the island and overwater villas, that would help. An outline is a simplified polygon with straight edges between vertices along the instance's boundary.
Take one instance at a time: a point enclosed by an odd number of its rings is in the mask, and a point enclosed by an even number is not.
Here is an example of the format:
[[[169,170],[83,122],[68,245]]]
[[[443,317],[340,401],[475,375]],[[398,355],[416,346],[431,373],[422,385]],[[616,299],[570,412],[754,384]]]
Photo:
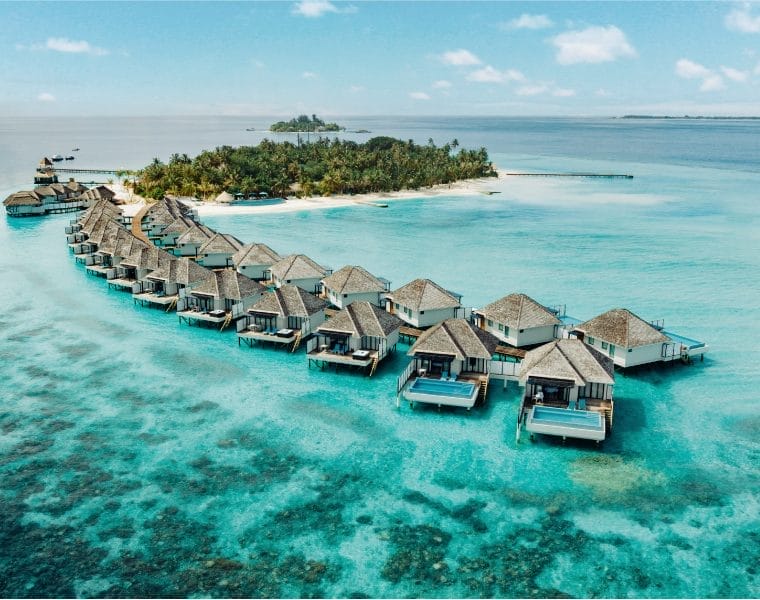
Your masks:
[[[482,122],[453,134],[477,140]],[[200,139],[235,139],[215,123]],[[454,137],[413,125],[399,135]],[[710,345],[618,373],[599,450],[516,445],[514,384],[468,413],[396,408],[403,347],[371,379],[238,347],[86,275],[69,215],[0,218],[0,596],[757,597],[760,125],[708,125],[483,134],[501,167],[633,180],[204,220],[393,286],[430,277],[472,306],[513,291],[581,318],[625,306]],[[146,133],[147,160],[154,142],[184,151],[188,127]],[[15,135],[2,164],[36,164]],[[72,145],[91,151],[88,135]]]

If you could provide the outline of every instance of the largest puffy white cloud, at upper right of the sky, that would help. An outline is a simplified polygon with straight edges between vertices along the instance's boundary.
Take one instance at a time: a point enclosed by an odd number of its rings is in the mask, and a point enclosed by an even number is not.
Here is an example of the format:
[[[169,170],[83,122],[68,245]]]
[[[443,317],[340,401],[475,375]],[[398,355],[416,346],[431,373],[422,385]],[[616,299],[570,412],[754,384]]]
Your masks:
[[[625,33],[614,25],[566,31],[555,36],[552,44],[557,48],[557,62],[561,65],[602,63],[636,56]]]

